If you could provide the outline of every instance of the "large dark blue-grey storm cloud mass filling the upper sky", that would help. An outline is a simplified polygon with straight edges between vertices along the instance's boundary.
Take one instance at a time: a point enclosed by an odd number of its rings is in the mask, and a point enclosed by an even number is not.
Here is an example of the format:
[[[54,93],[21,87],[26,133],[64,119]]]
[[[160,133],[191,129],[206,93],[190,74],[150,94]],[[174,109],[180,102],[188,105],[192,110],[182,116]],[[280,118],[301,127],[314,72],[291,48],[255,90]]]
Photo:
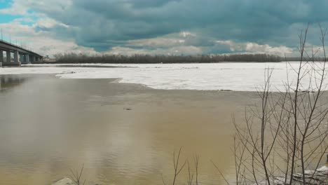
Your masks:
[[[96,50],[182,31],[203,36],[189,46],[215,46],[217,39],[292,47],[307,22],[328,20],[327,0],[72,0],[60,7],[31,8],[69,25],[52,28],[57,36]]]

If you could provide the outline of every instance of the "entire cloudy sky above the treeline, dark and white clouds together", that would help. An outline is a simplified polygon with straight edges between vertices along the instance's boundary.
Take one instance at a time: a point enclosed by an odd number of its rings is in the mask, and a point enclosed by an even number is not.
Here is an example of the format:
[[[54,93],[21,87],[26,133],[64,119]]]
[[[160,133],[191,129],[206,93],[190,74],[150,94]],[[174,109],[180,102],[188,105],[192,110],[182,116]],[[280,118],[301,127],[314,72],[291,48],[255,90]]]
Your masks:
[[[0,0],[7,41],[55,53],[295,55],[310,22],[328,26],[327,0]]]

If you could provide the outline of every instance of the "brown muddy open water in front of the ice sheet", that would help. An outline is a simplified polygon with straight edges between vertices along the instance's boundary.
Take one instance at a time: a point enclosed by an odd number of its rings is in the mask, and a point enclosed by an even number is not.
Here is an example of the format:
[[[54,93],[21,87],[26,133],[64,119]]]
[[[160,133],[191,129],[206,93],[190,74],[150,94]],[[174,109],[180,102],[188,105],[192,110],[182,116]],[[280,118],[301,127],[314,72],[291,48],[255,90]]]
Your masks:
[[[233,125],[256,93],[153,90],[111,79],[1,76],[0,184],[50,184],[84,164],[86,184],[172,181],[200,156],[201,184],[233,178]],[[186,170],[178,177],[186,184]]]

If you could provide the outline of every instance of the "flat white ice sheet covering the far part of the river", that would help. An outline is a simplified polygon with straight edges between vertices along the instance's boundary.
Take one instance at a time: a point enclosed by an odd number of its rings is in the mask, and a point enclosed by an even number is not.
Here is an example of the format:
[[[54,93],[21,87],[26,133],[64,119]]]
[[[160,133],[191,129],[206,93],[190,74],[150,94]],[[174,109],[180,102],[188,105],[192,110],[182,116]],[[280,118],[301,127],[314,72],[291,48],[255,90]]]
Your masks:
[[[320,63],[319,63],[320,64]],[[64,67],[56,67],[64,65]],[[156,89],[245,90],[264,85],[265,74],[273,69],[271,90],[285,90],[295,81],[292,68],[299,62],[212,63],[212,64],[32,64],[29,67],[1,68],[0,74],[56,74],[60,78],[120,78],[121,83],[139,83]],[[86,67],[91,66],[91,67]],[[100,66],[100,67],[95,67]],[[115,67],[115,68],[110,68]],[[288,69],[288,70],[287,70]],[[303,78],[307,89],[308,78]]]

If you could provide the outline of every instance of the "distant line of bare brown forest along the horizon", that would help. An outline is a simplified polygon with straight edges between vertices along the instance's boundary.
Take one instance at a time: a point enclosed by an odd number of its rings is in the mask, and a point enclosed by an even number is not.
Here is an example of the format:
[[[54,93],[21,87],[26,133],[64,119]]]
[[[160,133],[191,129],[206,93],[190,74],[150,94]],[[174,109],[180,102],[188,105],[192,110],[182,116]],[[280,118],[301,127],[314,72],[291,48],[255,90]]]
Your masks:
[[[214,63],[214,62],[282,62],[299,61],[299,57],[279,57],[267,54],[233,54],[233,55],[83,55],[66,53],[55,55],[56,63]],[[322,59],[317,58],[316,61]]]

